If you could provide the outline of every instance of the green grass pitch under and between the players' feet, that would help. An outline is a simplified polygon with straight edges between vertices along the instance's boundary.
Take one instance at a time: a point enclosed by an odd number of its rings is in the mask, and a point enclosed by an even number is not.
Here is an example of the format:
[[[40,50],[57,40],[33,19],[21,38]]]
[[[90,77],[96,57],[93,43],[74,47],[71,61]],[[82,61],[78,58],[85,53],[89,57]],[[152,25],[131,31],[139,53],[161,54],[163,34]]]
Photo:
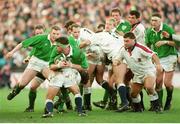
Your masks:
[[[146,93],[145,106],[146,111],[143,113],[116,113],[107,111],[93,106],[93,111],[88,112],[87,117],[78,117],[76,112],[54,113],[53,118],[41,118],[43,114],[46,91],[38,91],[35,104],[35,112],[23,112],[28,105],[28,90],[23,90],[12,101],[6,100],[10,90],[0,89],[0,123],[178,123],[180,122],[180,89],[175,89],[172,109],[163,114],[149,112],[149,102]],[[102,99],[103,90],[93,90],[92,101]],[[165,92],[164,92],[165,94]],[[73,100],[74,101],[74,100]]]

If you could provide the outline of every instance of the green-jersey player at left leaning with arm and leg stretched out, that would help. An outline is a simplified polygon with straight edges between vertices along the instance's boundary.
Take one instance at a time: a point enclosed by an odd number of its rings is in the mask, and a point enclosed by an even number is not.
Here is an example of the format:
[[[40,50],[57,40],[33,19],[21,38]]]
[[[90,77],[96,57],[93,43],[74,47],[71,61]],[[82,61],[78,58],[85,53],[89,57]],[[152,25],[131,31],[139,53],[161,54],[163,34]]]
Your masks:
[[[7,53],[6,58],[11,58],[13,54],[22,47],[33,47],[35,52],[31,57],[28,66],[24,70],[19,83],[14,87],[12,92],[7,96],[8,100],[12,100],[19,92],[37,75],[43,68],[48,66],[53,43],[60,36],[60,28],[53,26],[50,34],[36,35],[19,43],[13,50]]]

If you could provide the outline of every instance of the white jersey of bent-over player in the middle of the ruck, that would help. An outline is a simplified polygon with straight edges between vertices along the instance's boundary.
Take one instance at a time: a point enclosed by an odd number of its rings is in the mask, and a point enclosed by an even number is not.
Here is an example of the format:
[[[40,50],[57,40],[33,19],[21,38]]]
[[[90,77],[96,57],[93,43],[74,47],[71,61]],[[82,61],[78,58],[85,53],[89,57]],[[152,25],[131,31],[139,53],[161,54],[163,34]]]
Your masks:
[[[122,36],[117,36],[114,33],[109,32],[96,33],[91,41],[93,44],[97,44],[101,47],[103,52],[107,54],[109,60],[112,60],[124,45]]]

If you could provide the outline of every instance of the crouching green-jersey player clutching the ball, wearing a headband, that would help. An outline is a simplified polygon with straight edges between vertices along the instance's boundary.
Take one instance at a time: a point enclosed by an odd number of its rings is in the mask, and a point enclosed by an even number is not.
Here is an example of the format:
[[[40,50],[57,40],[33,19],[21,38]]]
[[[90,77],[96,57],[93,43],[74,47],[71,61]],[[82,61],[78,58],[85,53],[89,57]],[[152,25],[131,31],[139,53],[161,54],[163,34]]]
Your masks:
[[[85,54],[79,48],[71,47],[66,37],[58,38],[56,45],[57,47],[53,49],[49,62],[49,69],[51,69],[49,75],[53,76],[50,78],[45,113],[42,117],[53,116],[53,99],[63,86],[75,95],[78,115],[86,116],[82,111],[82,98],[78,87],[81,81],[79,72],[88,68]]]

